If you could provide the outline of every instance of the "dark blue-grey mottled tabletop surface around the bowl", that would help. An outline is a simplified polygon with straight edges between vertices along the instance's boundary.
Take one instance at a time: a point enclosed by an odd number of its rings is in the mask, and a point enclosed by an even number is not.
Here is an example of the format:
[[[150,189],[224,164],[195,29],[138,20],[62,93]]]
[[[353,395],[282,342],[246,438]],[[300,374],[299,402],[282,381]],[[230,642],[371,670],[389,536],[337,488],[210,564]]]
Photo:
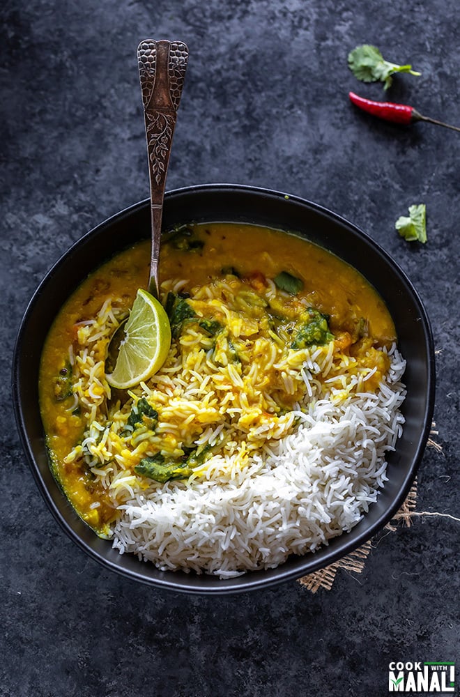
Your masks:
[[[390,660],[459,660],[459,523],[416,520],[381,539],[360,576],[332,591],[298,583],[191,599],[110,574],[49,514],[10,406],[10,355],[47,269],[88,229],[148,194],[135,51],[190,48],[167,187],[234,182],[317,201],[394,256],[434,330],[436,440],[419,510],[459,516],[460,135],[399,128],[355,112],[346,55],[375,43],[412,62],[389,93],[460,123],[454,0],[9,1],[0,8],[1,652],[0,695],[367,697],[388,692]],[[429,243],[394,221],[428,212]],[[459,682],[457,677],[457,683]]]

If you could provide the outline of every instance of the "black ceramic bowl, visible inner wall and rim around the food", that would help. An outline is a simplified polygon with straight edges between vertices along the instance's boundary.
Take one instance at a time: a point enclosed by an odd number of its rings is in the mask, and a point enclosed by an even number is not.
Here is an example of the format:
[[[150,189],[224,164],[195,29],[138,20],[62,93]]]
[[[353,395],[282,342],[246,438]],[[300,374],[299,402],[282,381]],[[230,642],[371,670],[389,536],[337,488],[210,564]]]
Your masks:
[[[119,555],[75,514],[49,469],[40,411],[38,369],[43,343],[64,300],[95,267],[150,235],[149,201],[132,206],[87,233],[62,256],[26,310],[15,347],[13,395],[17,425],[32,473],[66,533],[105,567],[129,579],[190,593],[231,593],[298,579],[335,562],[363,544],[397,512],[415,478],[427,442],[434,404],[434,350],[429,321],[411,282],[390,256],[335,213],[297,197],[237,185],[205,185],[171,191],[164,201],[164,228],[184,222],[248,222],[293,231],[354,266],[378,290],[397,329],[407,360],[404,434],[388,454],[384,489],[351,533],[316,553],[293,556],[277,569],[221,581],[214,576],[160,572],[134,555]]]

